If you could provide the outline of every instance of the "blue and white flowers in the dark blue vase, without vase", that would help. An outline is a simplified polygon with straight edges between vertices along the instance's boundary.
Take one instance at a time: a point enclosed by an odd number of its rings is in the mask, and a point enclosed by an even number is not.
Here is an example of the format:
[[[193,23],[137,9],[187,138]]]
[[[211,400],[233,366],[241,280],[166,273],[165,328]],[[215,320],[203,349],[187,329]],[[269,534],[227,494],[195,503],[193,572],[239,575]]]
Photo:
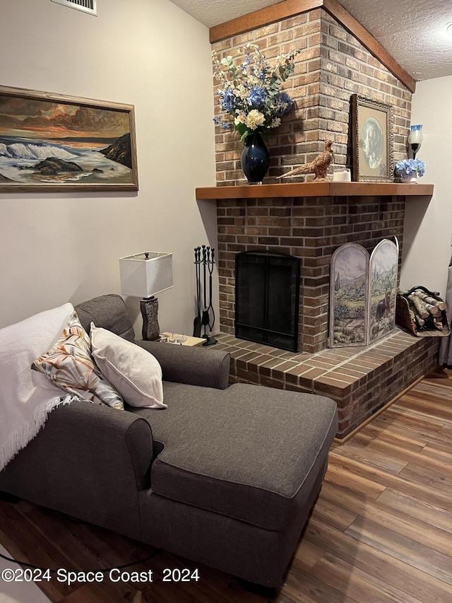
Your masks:
[[[217,95],[223,114],[222,118],[214,118],[215,123],[225,128],[234,126],[242,141],[254,132],[267,139],[294,105],[290,95],[281,92],[280,87],[293,74],[294,58],[299,52],[281,54],[271,67],[259,47],[251,42],[237,51],[244,56],[240,64],[232,56],[220,60],[214,51],[214,76],[221,83]]]

